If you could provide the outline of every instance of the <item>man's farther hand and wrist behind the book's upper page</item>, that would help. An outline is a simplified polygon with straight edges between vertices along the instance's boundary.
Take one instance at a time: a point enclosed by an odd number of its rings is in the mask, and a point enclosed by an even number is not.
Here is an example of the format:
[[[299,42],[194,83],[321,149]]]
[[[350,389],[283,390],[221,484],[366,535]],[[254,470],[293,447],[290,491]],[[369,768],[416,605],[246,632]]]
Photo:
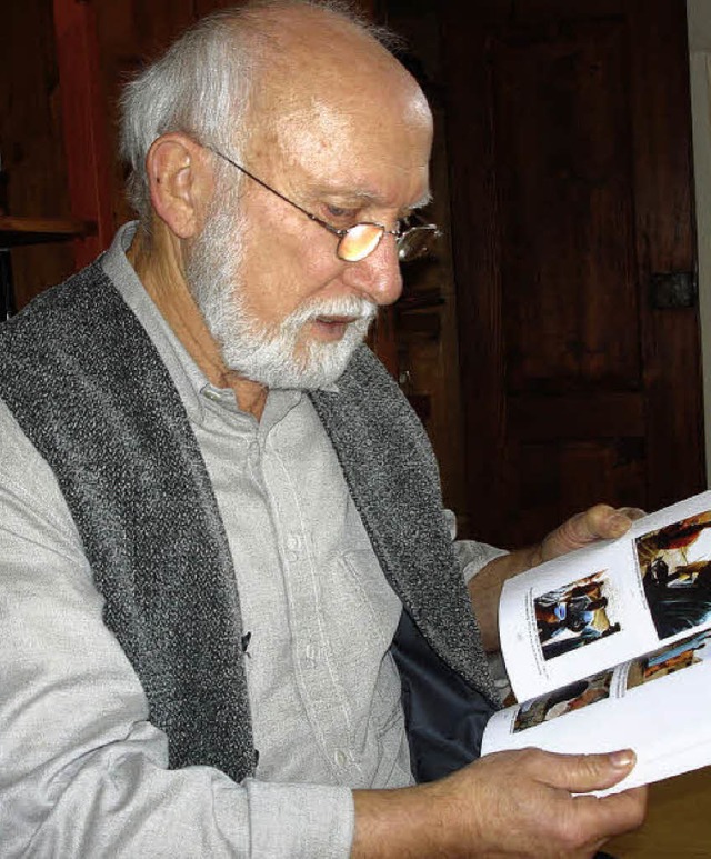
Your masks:
[[[550,561],[559,555],[581,549],[595,540],[622,537],[632,521],[644,516],[637,507],[610,507],[595,505],[583,513],[571,517],[551,531],[540,543],[527,549],[518,549],[490,561],[469,582],[469,595],[481,640],[487,650],[499,648],[499,600],[501,588],[507,579],[519,572]]]

